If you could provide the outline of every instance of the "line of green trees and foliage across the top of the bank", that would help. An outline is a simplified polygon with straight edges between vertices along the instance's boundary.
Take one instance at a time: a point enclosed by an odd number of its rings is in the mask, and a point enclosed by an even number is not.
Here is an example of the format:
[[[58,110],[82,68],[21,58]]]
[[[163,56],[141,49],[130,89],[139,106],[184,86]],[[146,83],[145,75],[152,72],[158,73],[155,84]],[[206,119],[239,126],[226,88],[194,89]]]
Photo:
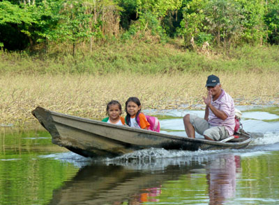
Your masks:
[[[279,44],[278,10],[278,0],[1,1],[0,48],[47,51],[71,44],[74,55],[80,43],[92,51],[108,38],[149,35],[183,38],[186,47]]]

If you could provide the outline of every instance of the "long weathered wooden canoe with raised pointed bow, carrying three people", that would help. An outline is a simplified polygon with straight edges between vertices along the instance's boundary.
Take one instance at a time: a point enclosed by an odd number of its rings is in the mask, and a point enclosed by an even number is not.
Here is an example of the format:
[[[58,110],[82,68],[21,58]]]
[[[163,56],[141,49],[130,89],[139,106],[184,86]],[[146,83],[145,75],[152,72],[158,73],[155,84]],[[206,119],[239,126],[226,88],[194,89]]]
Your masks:
[[[86,157],[121,156],[151,147],[189,151],[242,149],[252,140],[250,134],[245,132],[228,142],[172,136],[65,115],[41,107],[33,110],[32,114],[50,132],[52,143]]]

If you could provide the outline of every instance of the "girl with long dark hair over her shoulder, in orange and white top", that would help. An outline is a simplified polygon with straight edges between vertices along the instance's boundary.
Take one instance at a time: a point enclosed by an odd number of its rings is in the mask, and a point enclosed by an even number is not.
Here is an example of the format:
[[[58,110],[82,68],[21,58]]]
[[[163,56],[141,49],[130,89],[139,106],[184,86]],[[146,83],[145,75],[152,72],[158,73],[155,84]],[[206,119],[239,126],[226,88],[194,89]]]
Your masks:
[[[142,105],[140,104],[140,99],[137,97],[129,97],[126,101],[126,117],[125,122],[128,126],[149,129],[149,122],[146,120],[144,113],[141,113]]]

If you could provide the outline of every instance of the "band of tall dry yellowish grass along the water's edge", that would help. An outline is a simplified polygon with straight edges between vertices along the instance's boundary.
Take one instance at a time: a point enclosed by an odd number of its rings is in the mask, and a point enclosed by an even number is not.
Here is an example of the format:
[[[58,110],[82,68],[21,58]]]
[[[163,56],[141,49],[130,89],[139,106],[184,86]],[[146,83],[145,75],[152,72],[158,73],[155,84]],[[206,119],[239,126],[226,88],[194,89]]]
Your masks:
[[[195,108],[205,95],[206,77],[201,74],[109,74],[0,76],[1,124],[33,123],[36,106],[80,117],[105,117],[108,101],[117,99],[124,110],[128,97],[136,96],[144,109]],[[279,72],[215,73],[236,104],[279,103]],[[186,105],[186,106],[182,106]],[[125,115],[125,113],[124,113]]]

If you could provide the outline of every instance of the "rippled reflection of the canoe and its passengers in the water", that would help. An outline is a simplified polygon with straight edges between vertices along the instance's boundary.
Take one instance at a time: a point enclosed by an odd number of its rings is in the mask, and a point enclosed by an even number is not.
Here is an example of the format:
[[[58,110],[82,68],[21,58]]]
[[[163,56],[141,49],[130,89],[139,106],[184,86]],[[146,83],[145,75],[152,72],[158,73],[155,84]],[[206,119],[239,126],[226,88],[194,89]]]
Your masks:
[[[239,156],[220,153],[156,158],[147,163],[139,160],[93,163],[82,167],[73,179],[54,190],[50,204],[190,204],[193,199],[197,202],[202,199],[205,204],[223,204],[235,195],[239,164]],[[187,176],[194,179],[197,174],[203,178],[203,184],[194,183],[183,188],[187,182],[182,181],[184,185],[181,188],[181,178]],[[180,186],[175,187],[176,183]],[[176,195],[179,190],[189,187],[197,190],[197,186],[199,190],[204,189],[203,196],[200,191],[198,195],[195,192]],[[178,191],[173,191],[173,188]]]

